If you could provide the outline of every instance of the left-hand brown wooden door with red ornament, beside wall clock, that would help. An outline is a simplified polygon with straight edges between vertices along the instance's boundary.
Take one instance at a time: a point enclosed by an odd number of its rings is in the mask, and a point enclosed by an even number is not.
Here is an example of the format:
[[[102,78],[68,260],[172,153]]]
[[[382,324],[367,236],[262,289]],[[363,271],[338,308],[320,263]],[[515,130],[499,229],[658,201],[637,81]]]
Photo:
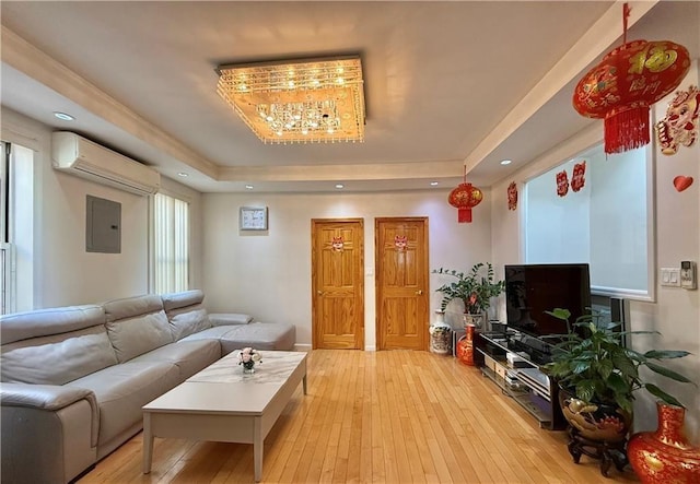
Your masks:
[[[314,349],[364,347],[364,223],[312,220]]]

